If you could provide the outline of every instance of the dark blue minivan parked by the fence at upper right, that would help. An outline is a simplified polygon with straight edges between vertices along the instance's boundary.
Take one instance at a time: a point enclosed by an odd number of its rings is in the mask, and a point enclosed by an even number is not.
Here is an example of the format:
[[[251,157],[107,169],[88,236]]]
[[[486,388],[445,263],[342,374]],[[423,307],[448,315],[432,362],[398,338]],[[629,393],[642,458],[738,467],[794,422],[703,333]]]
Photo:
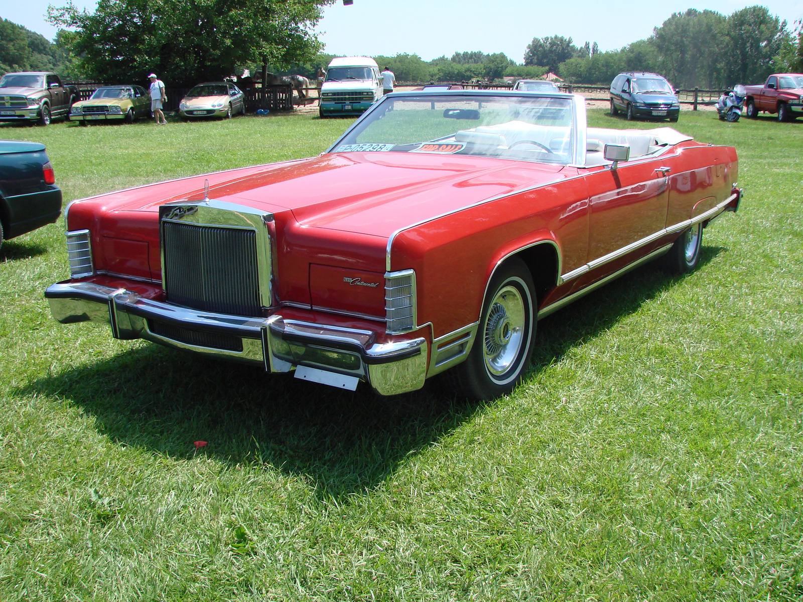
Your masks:
[[[628,120],[636,117],[677,121],[680,102],[669,82],[656,73],[620,73],[610,84],[610,114],[623,112]]]

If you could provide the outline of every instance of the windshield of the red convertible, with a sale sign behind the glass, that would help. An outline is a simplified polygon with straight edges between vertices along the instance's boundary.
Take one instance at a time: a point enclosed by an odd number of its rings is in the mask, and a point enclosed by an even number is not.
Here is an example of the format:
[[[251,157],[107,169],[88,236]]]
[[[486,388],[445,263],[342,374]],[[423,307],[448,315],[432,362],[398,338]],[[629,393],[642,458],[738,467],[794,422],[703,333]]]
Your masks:
[[[333,150],[438,153],[567,164],[572,100],[531,96],[385,97]]]

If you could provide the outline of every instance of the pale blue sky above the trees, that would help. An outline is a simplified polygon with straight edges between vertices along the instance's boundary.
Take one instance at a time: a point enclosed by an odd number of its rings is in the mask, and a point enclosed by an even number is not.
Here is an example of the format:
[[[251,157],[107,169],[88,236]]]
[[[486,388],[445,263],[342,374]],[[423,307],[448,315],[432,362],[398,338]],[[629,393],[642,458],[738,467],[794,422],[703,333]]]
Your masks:
[[[94,10],[94,0],[74,0]],[[48,39],[55,27],[45,22],[48,4],[59,0],[4,0],[0,16]],[[417,54],[431,60],[457,51],[504,52],[521,63],[534,37],[563,35],[578,46],[597,42],[603,51],[625,46],[652,33],[673,12],[695,8],[731,14],[756,2],[645,2],[644,0],[341,0],[328,6],[318,24],[326,51],[340,55]],[[761,2],[772,14],[789,21],[803,18],[803,0]],[[615,6],[615,8],[614,8]]]

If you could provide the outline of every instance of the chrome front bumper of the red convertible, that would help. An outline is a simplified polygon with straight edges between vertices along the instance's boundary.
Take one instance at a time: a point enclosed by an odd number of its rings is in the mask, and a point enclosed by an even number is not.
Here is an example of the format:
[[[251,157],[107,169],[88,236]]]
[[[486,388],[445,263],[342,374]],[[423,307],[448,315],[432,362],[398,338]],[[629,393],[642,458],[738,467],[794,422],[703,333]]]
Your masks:
[[[380,395],[414,391],[426,379],[427,344],[421,337],[376,343],[369,330],[283,319],[279,314],[251,318],[198,311],[90,282],[52,284],[45,298],[60,323],[105,323],[116,339],[150,340],[262,365],[267,372],[304,368],[296,376],[313,372],[318,376],[309,380],[352,389],[357,380],[365,380]],[[329,379],[326,373],[340,377]]]

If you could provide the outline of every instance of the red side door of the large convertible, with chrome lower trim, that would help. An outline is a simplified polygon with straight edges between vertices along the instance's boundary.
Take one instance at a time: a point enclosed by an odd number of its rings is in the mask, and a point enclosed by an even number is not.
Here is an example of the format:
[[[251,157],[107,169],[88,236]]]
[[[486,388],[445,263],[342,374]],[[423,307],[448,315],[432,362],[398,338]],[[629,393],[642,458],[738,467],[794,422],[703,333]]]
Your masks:
[[[658,165],[660,164],[660,165]],[[666,164],[666,165],[664,165]],[[658,170],[669,167],[669,170]],[[589,190],[589,264],[604,275],[613,259],[650,245],[662,233],[669,205],[670,161],[630,161],[586,176]],[[605,268],[610,263],[611,267]]]

